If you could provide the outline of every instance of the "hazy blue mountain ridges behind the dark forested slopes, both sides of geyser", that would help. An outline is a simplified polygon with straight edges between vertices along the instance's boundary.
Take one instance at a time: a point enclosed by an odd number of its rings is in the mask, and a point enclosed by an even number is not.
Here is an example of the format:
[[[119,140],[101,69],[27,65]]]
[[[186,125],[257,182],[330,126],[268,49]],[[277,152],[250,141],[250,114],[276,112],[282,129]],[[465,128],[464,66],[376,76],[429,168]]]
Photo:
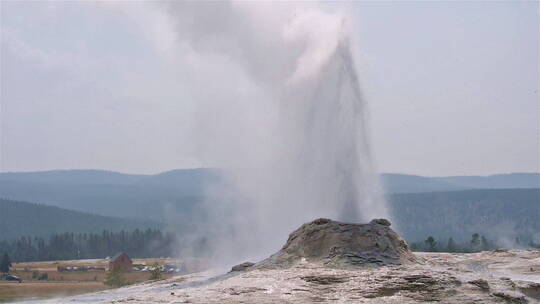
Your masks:
[[[103,170],[5,172],[0,173],[0,198],[104,216],[159,222],[173,217],[178,222],[204,212],[201,202],[206,200],[206,189],[221,179],[221,172],[210,168],[179,169],[153,175]],[[387,173],[381,175],[381,184],[387,194],[540,188],[540,174],[423,177]]]

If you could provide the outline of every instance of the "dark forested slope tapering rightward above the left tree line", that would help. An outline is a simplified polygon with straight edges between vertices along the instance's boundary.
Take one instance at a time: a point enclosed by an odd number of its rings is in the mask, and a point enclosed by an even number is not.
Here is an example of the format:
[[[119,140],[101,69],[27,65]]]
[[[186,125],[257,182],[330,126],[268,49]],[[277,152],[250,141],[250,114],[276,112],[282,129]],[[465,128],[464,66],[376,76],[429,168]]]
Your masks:
[[[151,221],[100,216],[58,207],[0,199],[0,240],[53,233],[159,228]]]

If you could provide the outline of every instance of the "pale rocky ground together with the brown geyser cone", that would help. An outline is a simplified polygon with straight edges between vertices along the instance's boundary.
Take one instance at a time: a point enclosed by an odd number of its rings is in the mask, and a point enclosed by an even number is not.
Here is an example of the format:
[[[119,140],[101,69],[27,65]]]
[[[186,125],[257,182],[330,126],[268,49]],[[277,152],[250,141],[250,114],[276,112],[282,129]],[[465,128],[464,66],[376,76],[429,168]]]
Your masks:
[[[50,303],[540,303],[540,250],[413,254],[386,220],[318,219],[233,270]]]

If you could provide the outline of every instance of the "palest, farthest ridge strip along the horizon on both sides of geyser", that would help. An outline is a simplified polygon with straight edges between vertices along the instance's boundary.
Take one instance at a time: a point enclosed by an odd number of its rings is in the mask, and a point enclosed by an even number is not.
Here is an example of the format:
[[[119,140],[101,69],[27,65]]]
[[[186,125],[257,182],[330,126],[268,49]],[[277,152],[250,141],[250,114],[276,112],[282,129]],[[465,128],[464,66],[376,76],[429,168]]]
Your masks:
[[[204,187],[220,178],[217,169],[177,169],[159,174],[125,174],[105,170],[53,170],[40,172],[0,172],[0,195],[19,195],[6,184],[21,185],[128,185],[132,187],[174,188],[177,193],[197,196]],[[424,177],[383,173],[381,182],[387,193],[453,191],[466,189],[540,188],[540,173],[508,173],[489,176]],[[23,187],[24,189],[25,187]],[[22,191],[28,192],[28,191]],[[47,197],[44,197],[47,199]]]

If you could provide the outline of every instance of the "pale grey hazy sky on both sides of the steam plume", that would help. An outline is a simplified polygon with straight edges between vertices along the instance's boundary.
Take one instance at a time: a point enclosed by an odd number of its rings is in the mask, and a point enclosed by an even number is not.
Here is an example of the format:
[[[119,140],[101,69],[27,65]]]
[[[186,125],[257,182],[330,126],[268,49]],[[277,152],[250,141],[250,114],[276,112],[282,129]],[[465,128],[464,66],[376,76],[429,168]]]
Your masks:
[[[538,2],[324,5],[343,6],[380,171],[540,171]],[[213,67],[178,43],[166,8],[6,1],[1,8],[1,171],[212,165],[193,147],[204,140],[193,138],[201,114],[193,96],[205,88],[190,83]],[[212,70],[212,86],[245,77],[223,69],[227,58],[211,61],[223,71]]]

